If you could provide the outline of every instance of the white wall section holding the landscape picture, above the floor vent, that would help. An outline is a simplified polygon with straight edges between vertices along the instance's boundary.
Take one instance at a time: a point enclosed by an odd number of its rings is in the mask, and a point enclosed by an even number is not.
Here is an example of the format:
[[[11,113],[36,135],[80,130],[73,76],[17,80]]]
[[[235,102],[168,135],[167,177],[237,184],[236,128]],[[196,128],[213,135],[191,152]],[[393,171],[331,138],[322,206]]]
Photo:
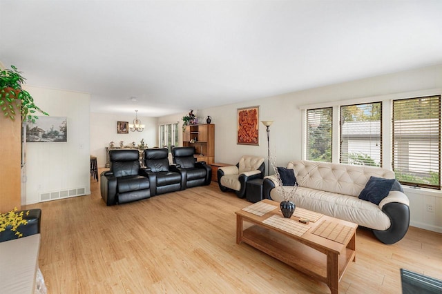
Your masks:
[[[26,90],[50,116],[68,121],[67,143],[26,144],[26,204],[39,202],[39,193],[84,188],[90,194],[90,95],[35,86]]]

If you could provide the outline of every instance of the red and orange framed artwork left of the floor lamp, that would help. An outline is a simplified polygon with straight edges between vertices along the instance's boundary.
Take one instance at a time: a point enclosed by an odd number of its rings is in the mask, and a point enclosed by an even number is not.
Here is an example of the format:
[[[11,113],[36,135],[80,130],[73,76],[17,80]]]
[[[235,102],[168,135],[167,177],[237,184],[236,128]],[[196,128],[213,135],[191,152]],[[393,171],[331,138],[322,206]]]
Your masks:
[[[259,145],[259,115],[259,106],[238,108],[237,144]]]

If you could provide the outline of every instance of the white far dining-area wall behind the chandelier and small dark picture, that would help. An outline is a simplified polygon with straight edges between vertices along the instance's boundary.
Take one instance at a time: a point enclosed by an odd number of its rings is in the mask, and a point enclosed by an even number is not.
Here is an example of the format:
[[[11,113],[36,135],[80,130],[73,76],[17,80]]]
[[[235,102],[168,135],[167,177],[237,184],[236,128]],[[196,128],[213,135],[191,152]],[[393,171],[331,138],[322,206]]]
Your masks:
[[[106,164],[106,147],[113,141],[115,146],[119,146],[119,141],[124,141],[124,145],[135,142],[140,144],[144,139],[144,144],[149,148],[158,145],[158,125],[156,117],[138,117],[145,125],[142,132],[131,132],[128,134],[117,134],[117,121],[128,121],[132,124],[135,118],[133,115],[113,115],[103,113],[90,113],[90,154],[97,157],[98,167]]]

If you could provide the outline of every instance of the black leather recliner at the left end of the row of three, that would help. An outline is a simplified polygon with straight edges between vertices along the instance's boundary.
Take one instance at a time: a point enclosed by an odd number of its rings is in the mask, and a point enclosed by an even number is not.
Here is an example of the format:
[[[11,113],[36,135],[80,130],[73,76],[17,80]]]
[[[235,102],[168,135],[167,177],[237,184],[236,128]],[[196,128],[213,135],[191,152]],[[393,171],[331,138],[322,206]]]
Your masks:
[[[101,177],[101,193],[106,205],[122,204],[151,197],[146,170],[140,168],[138,150],[110,150],[111,170]]]

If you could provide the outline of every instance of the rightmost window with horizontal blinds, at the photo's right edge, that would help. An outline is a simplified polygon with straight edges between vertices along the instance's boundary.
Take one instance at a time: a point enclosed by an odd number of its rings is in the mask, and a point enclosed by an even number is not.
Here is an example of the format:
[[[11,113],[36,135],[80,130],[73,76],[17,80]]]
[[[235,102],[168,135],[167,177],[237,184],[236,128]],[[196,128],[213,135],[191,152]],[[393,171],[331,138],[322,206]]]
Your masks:
[[[441,96],[393,101],[392,162],[402,184],[441,188]]]

